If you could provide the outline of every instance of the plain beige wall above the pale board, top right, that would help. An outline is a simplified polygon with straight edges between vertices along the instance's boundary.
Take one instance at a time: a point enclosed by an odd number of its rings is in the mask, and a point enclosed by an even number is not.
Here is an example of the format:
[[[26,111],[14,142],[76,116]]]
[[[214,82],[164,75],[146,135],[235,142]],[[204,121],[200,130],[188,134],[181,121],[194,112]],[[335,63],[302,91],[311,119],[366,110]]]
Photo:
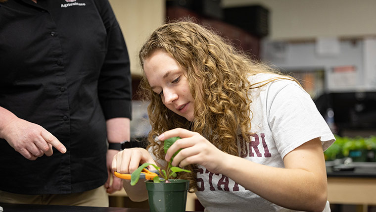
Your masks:
[[[375,0],[222,0],[223,7],[261,4],[270,10],[271,40],[376,35]]]

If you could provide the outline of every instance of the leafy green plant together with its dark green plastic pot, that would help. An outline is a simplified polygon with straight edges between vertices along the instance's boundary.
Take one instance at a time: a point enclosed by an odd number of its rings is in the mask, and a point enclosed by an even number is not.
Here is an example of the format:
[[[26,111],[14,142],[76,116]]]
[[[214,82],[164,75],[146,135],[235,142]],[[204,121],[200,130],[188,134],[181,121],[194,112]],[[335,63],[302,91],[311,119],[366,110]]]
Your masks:
[[[173,137],[164,141],[164,152],[180,137]],[[180,150],[179,150],[180,151]],[[141,171],[149,165],[159,170],[160,176],[155,176],[153,180],[146,180],[146,190],[149,197],[150,212],[185,212],[187,204],[187,192],[189,181],[184,179],[171,179],[176,177],[176,172],[190,172],[180,167],[172,166],[171,162],[179,153],[177,151],[168,162],[165,169],[154,164],[143,163],[131,175],[131,185],[136,185],[140,179]]]

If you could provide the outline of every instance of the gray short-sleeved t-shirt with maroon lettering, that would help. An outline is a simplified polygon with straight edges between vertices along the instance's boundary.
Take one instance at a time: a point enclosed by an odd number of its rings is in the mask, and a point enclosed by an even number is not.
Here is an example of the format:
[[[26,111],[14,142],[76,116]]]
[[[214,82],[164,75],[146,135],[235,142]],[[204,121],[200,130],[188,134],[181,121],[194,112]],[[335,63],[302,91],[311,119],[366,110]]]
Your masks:
[[[249,80],[255,83],[274,77],[277,75],[257,74]],[[335,141],[311,97],[296,82],[277,80],[250,92],[251,132],[255,134],[250,143],[239,135],[239,157],[283,168],[283,157],[303,143],[319,137],[325,151]],[[240,151],[243,145],[245,151]],[[196,196],[208,212],[292,212],[246,190],[223,174],[211,173],[201,165],[198,168]],[[324,212],[329,211],[327,202]]]

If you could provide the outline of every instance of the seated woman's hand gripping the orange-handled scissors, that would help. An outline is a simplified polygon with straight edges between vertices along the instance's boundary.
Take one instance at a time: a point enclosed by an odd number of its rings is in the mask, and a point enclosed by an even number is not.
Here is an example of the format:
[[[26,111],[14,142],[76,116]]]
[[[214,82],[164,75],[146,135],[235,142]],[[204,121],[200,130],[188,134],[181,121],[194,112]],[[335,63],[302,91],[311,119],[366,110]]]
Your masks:
[[[147,150],[143,148],[130,148],[117,153],[112,160],[112,170],[121,174],[132,174],[142,163],[156,164]],[[147,167],[155,170],[152,165]]]

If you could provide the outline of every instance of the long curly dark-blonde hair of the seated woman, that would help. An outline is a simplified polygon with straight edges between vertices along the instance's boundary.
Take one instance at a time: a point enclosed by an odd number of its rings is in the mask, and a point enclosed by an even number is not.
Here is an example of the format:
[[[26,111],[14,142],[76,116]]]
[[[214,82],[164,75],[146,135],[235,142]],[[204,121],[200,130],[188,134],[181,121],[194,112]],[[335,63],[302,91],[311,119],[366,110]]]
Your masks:
[[[164,159],[163,142],[152,138],[177,127],[198,132],[222,151],[238,156],[237,133],[245,139],[251,130],[249,89],[268,82],[251,84],[248,77],[257,73],[270,73],[269,66],[253,61],[238,51],[221,36],[191,20],[167,23],[157,28],[142,46],[139,57],[144,60],[155,51],[169,53],[186,71],[190,93],[194,99],[194,120],[174,113],[163,105],[146,77],[141,78],[139,95],[150,102],[148,115],[152,130],[148,135],[153,154]],[[249,140],[247,140],[249,141]],[[191,173],[181,173],[180,178],[190,180],[196,188],[195,165],[186,167]]]

